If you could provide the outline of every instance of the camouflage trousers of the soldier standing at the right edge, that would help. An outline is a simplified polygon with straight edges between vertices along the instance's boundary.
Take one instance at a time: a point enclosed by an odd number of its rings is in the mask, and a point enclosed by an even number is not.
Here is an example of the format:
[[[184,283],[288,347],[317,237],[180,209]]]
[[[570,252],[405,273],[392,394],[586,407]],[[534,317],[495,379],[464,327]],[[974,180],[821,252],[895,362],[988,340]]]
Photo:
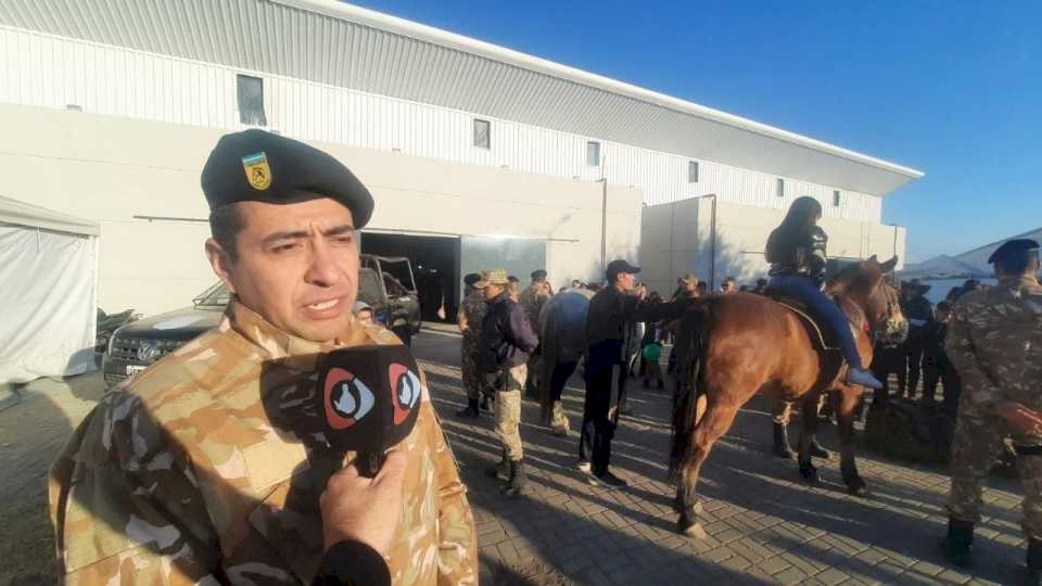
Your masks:
[[[955,519],[980,522],[982,486],[1009,435],[997,419],[974,417],[960,409],[952,441],[952,489],[948,512]],[[1042,456],[1017,456],[1017,475],[1024,491],[1024,532],[1042,539]]]

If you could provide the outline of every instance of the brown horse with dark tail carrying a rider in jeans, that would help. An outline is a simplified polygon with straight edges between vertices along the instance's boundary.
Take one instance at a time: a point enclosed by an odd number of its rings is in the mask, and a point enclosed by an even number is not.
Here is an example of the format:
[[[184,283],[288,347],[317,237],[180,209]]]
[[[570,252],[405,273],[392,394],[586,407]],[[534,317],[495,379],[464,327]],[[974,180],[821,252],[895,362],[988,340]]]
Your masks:
[[[856,332],[865,366],[872,362],[874,336],[892,341],[907,336],[897,289],[885,278],[897,262],[893,257],[879,264],[873,256],[852,265],[828,285]],[[862,388],[844,383],[847,365],[841,353],[822,349],[793,311],[749,293],[712,296],[684,316],[679,337],[678,359],[687,365],[686,384],[674,412],[670,475],[679,476],[676,508],[681,533],[706,535],[697,518],[699,469],[738,409],[757,393],[802,403],[799,467],[813,482],[817,471],[811,464],[810,444],[817,424],[816,405],[821,393],[833,392],[838,399],[843,482],[851,493],[867,494],[852,443]]]

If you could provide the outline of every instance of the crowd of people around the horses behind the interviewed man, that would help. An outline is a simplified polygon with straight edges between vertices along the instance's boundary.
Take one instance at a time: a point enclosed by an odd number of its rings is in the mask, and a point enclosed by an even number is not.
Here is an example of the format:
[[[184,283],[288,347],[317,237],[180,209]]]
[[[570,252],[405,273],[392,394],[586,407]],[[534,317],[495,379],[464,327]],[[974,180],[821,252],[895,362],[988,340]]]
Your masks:
[[[495,426],[503,448],[499,462],[487,470],[487,475],[500,479],[504,495],[521,494],[525,482],[519,434],[522,388],[541,374],[547,377],[543,392],[549,394],[552,407],[549,413],[544,410],[544,416],[555,433],[567,433],[561,391],[582,359],[586,388],[577,466],[589,473],[594,485],[626,486],[626,481],[610,469],[611,441],[619,416],[626,410],[625,379],[639,377],[645,386],[652,382],[657,387],[664,386],[659,366],[663,344],[675,333],[677,318],[700,297],[738,292],[787,294],[833,330],[847,357],[846,383],[875,390],[875,405],[889,400],[886,383],[891,371],[898,374],[901,396],[915,398],[922,380],[920,400],[927,404],[936,400],[938,383],[943,382],[942,406],[953,416],[958,411],[949,532],[944,538],[949,559],[958,565],[971,563],[981,486],[1003,442],[1012,437],[1026,486],[1028,581],[1037,584],[1042,577],[1042,400],[1037,392],[1042,380],[1038,348],[1042,346],[1034,345],[1042,344],[1042,286],[1035,279],[1039,244],[1014,240],[1000,246],[989,259],[999,278],[997,286],[967,281],[937,307],[925,296],[929,285],[917,280],[902,283],[899,303],[908,335],[893,347],[877,346],[868,370],[852,340],[844,340],[851,335],[847,317],[824,293],[827,235],[816,226],[819,218],[819,204],[810,198],[797,200],[786,222],[768,239],[771,279],[758,280],[753,286],[739,286],[735,279],[727,278],[719,291],[710,293],[704,282],[685,275],[677,279],[670,300],[663,301],[646,283],[637,282],[637,267],[624,259],[613,260],[606,268],[603,285],[573,281],[570,291],[562,288],[558,292],[557,300],[571,297],[577,308],[569,328],[548,319],[548,314],[555,314],[547,311],[555,295],[545,271],[533,272],[531,285],[520,294],[513,284],[517,280],[501,269],[468,276],[465,282],[473,290],[470,298],[474,301],[461,310],[460,328],[469,340],[463,345],[462,364],[470,398],[458,415],[480,417],[480,397],[495,397]],[[791,226],[787,226],[790,220]],[[487,302],[483,319],[478,314],[482,298]],[[471,306],[473,309],[468,309]],[[481,328],[475,329],[479,320]],[[573,337],[568,343],[569,352],[559,353],[556,339],[568,332]],[[675,371],[675,357],[669,364]],[[970,390],[961,400],[964,382]],[[824,399],[823,395],[818,409]],[[790,404],[779,400],[774,413],[775,454],[785,453],[787,457],[791,457],[785,435],[790,409]],[[978,448],[976,438],[983,438],[984,445]],[[812,440],[810,450],[813,457],[828,457],[816,440]]]

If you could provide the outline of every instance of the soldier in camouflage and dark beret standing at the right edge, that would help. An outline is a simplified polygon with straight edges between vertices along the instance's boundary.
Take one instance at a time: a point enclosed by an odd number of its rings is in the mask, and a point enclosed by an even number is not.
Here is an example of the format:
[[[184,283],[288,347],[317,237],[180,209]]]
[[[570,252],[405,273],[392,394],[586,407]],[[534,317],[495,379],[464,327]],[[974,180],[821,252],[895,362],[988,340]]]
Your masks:
[[[1042,286],[1039,244],[1011,240],[988,259],[999,285],[960,298],[945,352],[963,380],[952,444],[948,552],[968,565],[981,485],[1012,437],[1024,488],[1032,583],[1042,572]]]

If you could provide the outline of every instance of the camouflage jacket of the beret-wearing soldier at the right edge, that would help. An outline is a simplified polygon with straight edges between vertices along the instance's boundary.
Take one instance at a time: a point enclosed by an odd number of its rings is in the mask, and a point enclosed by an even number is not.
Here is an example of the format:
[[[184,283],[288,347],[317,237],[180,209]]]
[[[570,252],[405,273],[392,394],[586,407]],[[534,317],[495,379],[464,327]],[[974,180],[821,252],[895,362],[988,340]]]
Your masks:
[[[1003,279],[961,297],[945,352],[963,380],[961,413],[986,416],[1001,400],[1042,410],[1042,286]]]

